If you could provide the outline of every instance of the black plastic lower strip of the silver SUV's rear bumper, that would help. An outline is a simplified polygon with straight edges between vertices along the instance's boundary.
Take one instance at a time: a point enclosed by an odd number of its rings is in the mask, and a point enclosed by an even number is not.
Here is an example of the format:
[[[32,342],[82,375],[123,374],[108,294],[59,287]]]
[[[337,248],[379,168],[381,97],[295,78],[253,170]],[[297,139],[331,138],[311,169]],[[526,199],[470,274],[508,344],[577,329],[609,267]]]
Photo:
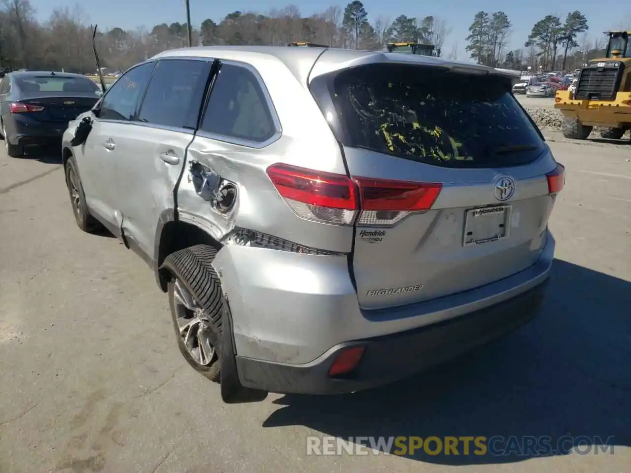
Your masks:
[[[344,394],[408,378],[501,337],[540,312],[547,279],[525,293],[447,322],[398,334],[345,342],[312,363],[283,365],[236,356],[244,387],[281,394]],[[331,378],[341,351],[365,348],[350,377]]]

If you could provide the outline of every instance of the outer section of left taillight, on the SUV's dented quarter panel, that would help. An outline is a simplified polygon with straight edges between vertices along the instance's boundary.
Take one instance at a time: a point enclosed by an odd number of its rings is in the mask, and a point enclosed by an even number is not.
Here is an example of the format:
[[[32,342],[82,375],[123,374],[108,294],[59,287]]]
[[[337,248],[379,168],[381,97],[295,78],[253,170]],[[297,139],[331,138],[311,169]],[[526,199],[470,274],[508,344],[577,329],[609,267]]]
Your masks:
[[[298,216],[338,225],[355,220],[357,192],[345,175],[275,164],[268,176]]]

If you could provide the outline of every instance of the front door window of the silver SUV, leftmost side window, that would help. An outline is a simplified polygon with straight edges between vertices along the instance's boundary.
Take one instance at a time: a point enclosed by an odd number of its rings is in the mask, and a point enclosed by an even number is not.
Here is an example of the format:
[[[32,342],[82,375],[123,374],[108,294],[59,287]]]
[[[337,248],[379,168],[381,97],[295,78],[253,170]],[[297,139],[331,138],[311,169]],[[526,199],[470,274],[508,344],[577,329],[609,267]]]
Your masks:
[[[103,97],[100,114],[103,120],[132,120],[155,63],[134,67],[122,75]]]

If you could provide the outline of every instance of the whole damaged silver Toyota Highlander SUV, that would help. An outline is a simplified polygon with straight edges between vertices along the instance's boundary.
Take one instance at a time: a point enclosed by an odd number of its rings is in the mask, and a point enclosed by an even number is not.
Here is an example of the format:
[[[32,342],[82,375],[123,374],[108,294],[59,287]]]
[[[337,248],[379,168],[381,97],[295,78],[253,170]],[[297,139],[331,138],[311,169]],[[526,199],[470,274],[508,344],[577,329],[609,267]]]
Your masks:
[[[69,124],[76,222],[146,260],[225,402],[399,380],[539,310],[564,169],[513,79],[361,50],[163,52]]]

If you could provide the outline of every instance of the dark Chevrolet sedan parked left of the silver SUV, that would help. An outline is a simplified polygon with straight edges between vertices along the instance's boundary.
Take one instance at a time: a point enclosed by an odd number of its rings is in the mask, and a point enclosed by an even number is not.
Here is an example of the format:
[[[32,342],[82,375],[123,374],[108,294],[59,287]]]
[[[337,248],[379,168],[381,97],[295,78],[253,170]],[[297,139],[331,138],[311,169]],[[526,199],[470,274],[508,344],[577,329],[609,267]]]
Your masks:
[[[0,127],[9,156],[32,146],[59,143],[69,120],[90,110],[102,95],[80,74],[15,72],[0,83]]]

